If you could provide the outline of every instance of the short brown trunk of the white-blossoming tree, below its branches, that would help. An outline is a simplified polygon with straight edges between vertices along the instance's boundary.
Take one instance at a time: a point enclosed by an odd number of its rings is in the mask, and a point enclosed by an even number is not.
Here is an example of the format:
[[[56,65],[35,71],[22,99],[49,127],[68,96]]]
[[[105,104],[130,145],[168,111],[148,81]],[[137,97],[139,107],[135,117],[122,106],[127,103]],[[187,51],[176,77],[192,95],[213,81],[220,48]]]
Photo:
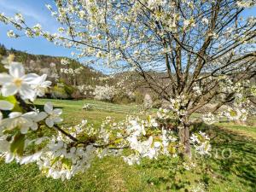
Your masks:
[[[191,148],[189,143],[189,126],[185,125],[179,130],[179,139],[184,146],[183,154],[191,157]]]

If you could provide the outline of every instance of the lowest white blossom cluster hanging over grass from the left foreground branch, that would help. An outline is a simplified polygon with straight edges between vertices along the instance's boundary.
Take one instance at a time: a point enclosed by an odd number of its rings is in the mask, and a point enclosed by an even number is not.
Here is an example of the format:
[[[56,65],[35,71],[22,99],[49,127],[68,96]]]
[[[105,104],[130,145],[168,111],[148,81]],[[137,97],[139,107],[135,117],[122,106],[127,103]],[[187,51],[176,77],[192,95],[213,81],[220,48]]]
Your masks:
[[[93,145],[70,148],[58,137],[52,139],[47,148],[48,151],[42,153],[37,160],[38,167],[47,177],[61,180],[70,179],[89,168],[96,151]]]

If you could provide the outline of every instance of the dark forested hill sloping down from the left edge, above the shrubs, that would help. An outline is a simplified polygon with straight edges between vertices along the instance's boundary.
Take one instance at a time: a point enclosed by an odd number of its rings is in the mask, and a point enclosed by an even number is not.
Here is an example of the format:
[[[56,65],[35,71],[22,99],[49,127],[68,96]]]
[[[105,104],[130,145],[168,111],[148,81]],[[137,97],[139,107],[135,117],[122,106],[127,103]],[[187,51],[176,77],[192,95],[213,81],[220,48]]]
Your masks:
[[[0,55],[15,55],[15,61],[22,62],[26,73],[46,73],[53,84],[65,83],[68,85],[97,84],[97,79],[104,75],[90,67],[85,67],[79,61],[69,60],[65,57],[49,55],[32,55],[15,49],[6,49],[0,44]],[[61,60],[68,59],[67,65],[62,65]],[[1,60],[0,60],[1,61]],[[5,70],[0,65],[0,72]],[[65,72],[64,72],[65,71]]]

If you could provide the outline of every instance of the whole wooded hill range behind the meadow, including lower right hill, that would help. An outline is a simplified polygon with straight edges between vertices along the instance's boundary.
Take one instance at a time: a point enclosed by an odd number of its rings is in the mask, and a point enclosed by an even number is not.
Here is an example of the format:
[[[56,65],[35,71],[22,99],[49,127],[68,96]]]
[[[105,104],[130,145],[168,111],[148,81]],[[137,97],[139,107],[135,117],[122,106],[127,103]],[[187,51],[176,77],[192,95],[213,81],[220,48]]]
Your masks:
[[[96,85],[114,86],[120,90],[124,90],[122,94],[115,98],[114,102],[123,102],[124,94],[133,93],[136,96],[136,101],[143,102],[143,96],[146,93],[154,95],[147,84],[144,83],[142,77],[134,72],[116,73],[114,75],[105,75],[94,70],[91,67],[82,65],[79,61],[72,60],[67,57],[49,56],[49,55],[33,55],[16,49],[6,49],[0,44],[0,55],[8,56],[15,55],[15,61],[21,62],[26,68],[26,73],[47,74],[48,80],[52,82],[48,97],[63,98],[63,99],[79,99],[92,98],[93,88]],[[67,65],[61,64],[61,60],[68,60]],[[7,71],[1,64],[0,58],[0,73]],[[79,73],[64,73],[66,70]],[[157,74],[160,75],[160,74]],[[90,94],[84,94],[79,87],[87,87]],[[122,96],[121,96],[122,95]],[[127,97],[127,96],[125,96]],[[129,97],[129,96],[128,96]],[[155,96],[154,96],[155,97]]]

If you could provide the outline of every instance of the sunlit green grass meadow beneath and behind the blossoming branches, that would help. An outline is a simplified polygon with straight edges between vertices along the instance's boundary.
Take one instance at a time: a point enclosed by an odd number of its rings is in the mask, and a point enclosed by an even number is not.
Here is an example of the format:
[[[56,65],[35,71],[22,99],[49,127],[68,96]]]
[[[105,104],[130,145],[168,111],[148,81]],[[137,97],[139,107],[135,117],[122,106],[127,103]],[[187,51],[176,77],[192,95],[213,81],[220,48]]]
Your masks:
[[[46,100],[38,100],[43,105]],[[99,125],[107,116],[124,119],[128,113],[138,113],[134,105],[117,105],[106,102],[51,100],[56,108],[63,108],[63,124],[72,125],[80,119],[88,119]],[[84,103],[94,109],[85,111]],[[0,162],[0,191],[191,191],[201,183],[207,183],[210,192],[256,191],[256,127],[218,124],[207,129],[212,137],[212,148],[218,150],[207,160],[198,162],[193,171],[177,172],[174,165],[178,159],[160,158],[143,160],[140,166],[127,166],[121,158],[108,157],[95,160],[84,174],[61,182],[44,177],[36,165],[19,166]],[[230,158],[222,158],[221,150],[230,148]]]

